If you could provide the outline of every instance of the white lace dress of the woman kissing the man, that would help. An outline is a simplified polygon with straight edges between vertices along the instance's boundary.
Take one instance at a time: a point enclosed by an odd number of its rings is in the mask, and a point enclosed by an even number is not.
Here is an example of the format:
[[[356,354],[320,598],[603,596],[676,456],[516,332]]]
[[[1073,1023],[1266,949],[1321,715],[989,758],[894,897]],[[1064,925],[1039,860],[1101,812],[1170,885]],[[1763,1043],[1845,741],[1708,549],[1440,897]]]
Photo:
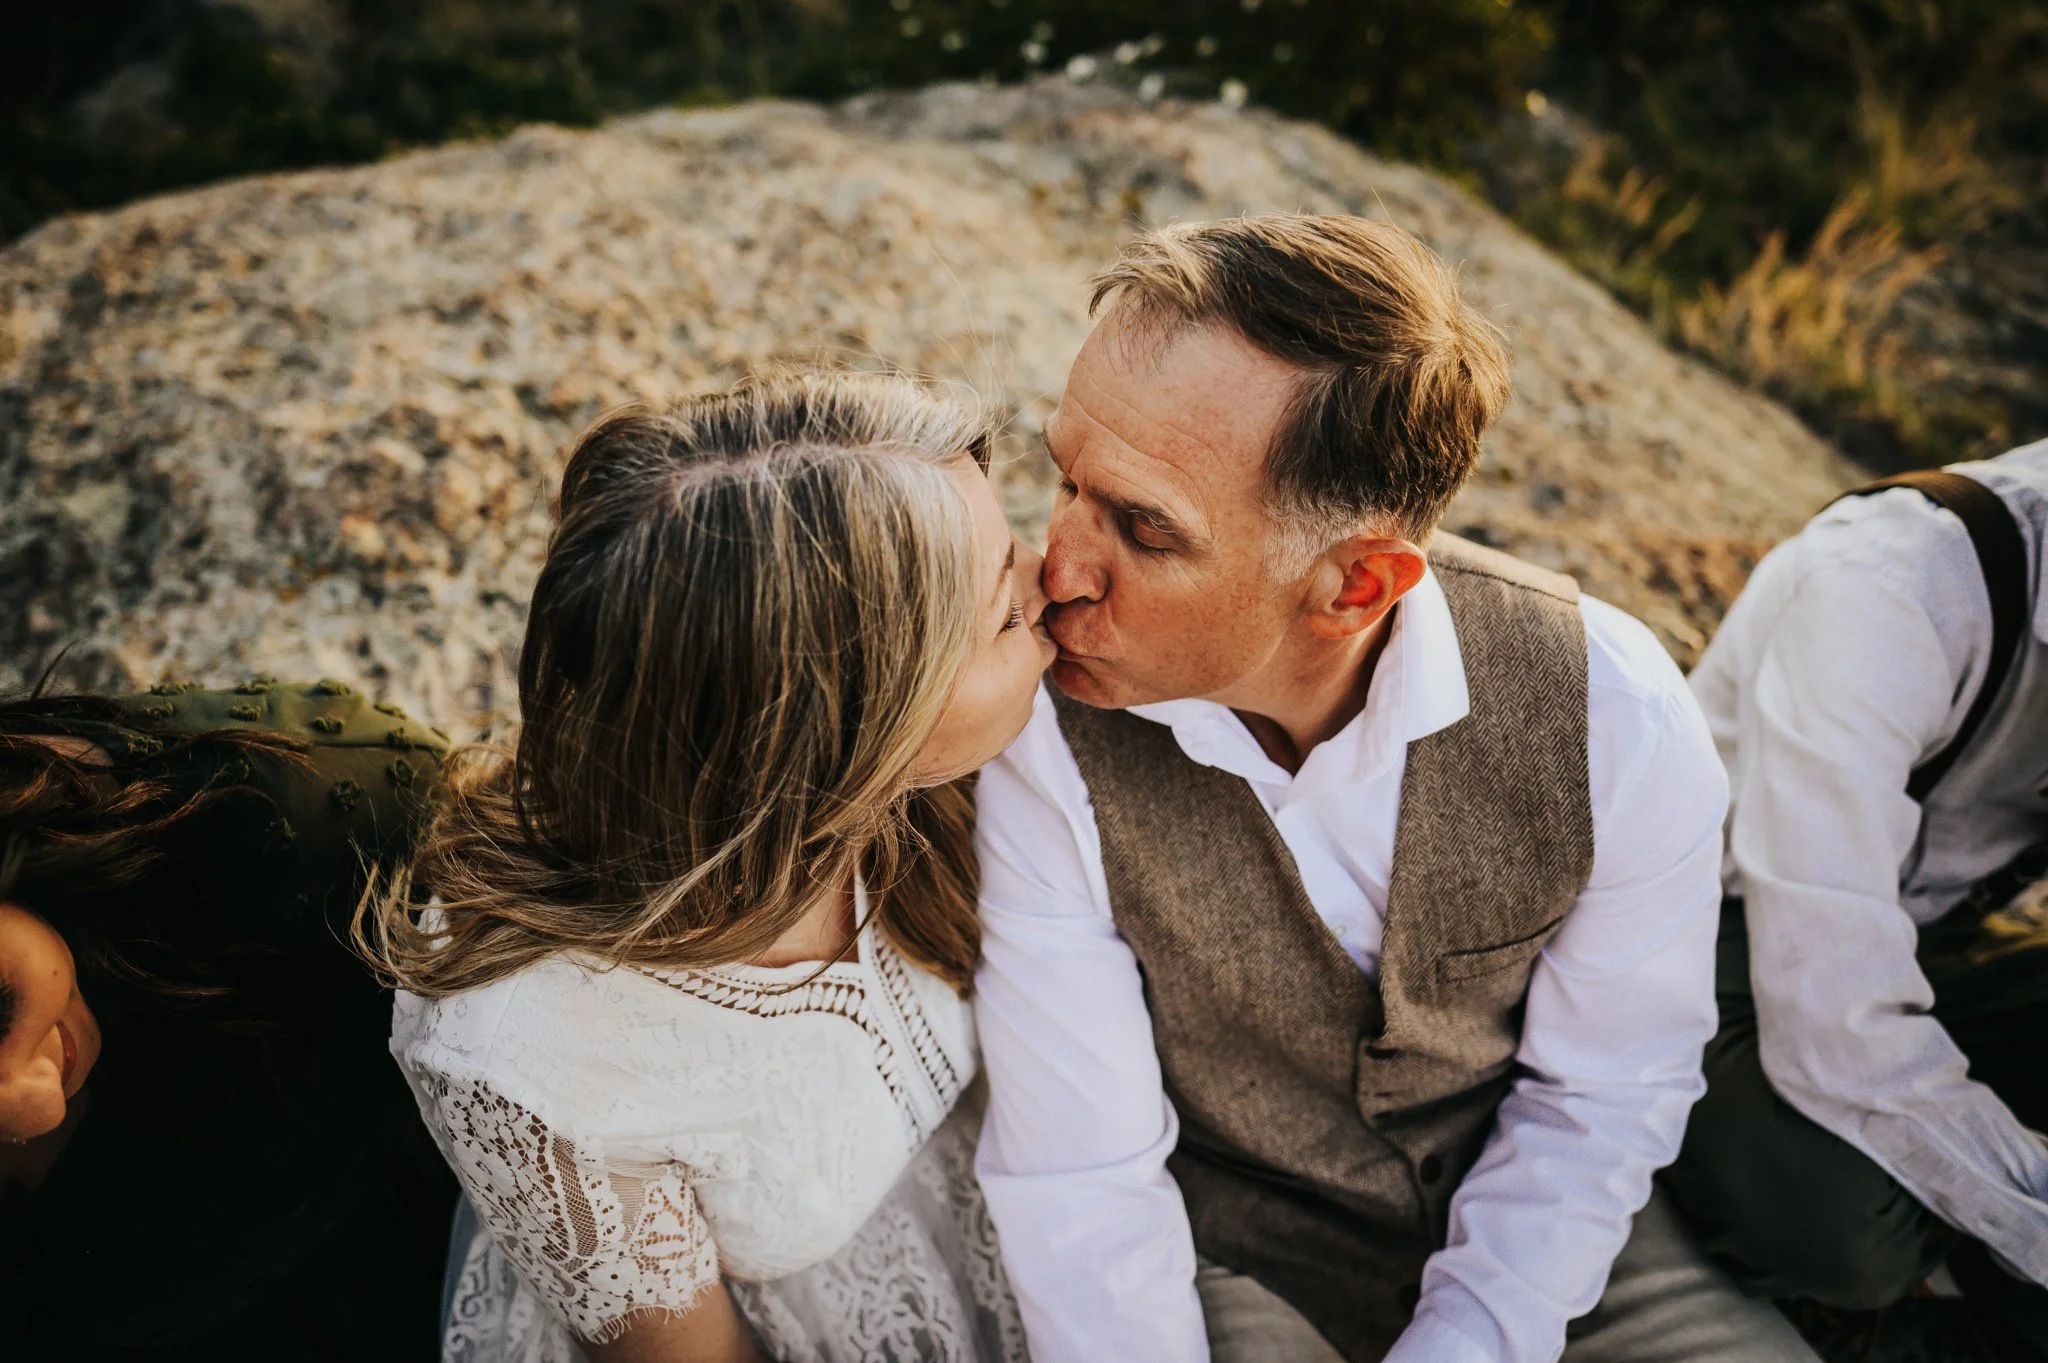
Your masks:
[[[399,995],[391,1050],[481,1222],[446,1361],[573,1363],[723,1277],[782,1363],[1024,1363],[967,1003],[872,927],[815,972],[563,956]]]

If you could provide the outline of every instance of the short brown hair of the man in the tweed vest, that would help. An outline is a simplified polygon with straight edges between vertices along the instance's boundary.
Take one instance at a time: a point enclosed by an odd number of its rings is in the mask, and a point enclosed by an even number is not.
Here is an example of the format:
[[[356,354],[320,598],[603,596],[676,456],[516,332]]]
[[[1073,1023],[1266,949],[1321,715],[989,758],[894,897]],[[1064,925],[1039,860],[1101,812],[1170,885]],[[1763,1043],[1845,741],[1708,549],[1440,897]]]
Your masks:
[[[1425,538],[1507,405],[1507,342],[1411,233],[1362,217],[1270,213],[1157,227],[1096,274],[1178,334],[1225,323],[1300,366],[1266,460],[1274,512],[1321,536],[1360,522]]]

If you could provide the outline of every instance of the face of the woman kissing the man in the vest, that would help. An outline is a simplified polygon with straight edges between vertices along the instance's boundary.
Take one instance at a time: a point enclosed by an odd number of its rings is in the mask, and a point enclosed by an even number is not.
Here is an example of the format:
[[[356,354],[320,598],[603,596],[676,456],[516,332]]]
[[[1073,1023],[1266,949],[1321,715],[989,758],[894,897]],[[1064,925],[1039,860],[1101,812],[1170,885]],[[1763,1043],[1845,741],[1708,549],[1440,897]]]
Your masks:
[[[975,518],[975,647],[946,714],[918,753],[922,784],[967,776],[1024,733],[1038,677],[1059,649],[1044,632],[1040,559],[1010,534],[989,479],[963,458],[950,469]]]

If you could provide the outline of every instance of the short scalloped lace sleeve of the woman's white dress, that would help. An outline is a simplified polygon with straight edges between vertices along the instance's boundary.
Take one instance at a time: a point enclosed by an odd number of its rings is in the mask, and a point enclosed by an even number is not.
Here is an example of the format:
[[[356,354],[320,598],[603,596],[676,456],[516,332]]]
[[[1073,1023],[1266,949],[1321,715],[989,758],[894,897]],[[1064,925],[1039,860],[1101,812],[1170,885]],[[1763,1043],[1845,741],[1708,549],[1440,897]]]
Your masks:
[[[606,1160],[481,1081],[422,1079],[477,1218],[578,1336],[610,1338],[637,1310],[688,1310],[719,1281],[682,1164]]]

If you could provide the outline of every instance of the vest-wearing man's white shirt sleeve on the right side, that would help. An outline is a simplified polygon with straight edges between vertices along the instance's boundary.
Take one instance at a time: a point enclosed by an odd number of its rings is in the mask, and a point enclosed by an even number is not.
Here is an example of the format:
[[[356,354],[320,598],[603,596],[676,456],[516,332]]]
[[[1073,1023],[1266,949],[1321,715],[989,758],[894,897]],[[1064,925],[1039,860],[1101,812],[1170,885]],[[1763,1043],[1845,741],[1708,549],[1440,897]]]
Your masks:
[[[1556,1359],[1704,1091],[1726,776],[1655,636],[1585,616],[1593,874],[1538,958],[1520,1074],[1386,1363]]]

